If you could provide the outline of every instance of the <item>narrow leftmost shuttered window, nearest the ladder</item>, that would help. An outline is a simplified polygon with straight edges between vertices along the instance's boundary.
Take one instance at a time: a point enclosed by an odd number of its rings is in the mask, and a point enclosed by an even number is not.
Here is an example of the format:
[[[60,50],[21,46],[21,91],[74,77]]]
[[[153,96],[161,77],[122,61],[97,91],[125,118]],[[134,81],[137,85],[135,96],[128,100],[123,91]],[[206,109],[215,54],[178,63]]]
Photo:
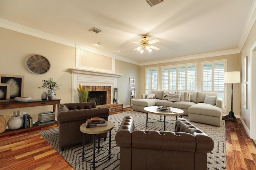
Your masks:
[[[158,68],[146,68],[146,94],[150,94],[151,90],[157,90],[158,84]]]

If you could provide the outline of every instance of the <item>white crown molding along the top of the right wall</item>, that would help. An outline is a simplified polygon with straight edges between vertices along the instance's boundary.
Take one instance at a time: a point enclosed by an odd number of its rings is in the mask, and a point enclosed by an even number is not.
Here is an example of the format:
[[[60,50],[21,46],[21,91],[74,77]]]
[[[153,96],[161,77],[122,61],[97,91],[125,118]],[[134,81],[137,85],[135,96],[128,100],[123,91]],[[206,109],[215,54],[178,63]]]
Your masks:
[[[256,0],[252,2],[252,6],[250,9],[250,12],[248,14],[246,23],[244,25],[244,30],[242,33],[242,36],[240,38],[239,44],[238,44],[238,49],[241,51],[242,48],[244,47],[244,43],[246,42],[246,39],[252,30],[252,27],[256,21]]]

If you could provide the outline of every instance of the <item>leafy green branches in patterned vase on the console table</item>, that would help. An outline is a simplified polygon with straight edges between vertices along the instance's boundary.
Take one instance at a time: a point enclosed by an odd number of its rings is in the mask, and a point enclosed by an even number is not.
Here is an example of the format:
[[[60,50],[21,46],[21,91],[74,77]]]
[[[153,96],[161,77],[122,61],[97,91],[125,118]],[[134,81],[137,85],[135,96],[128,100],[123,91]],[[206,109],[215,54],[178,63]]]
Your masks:
[[[55,91],[60,90],[59,86],[60,84],[57,84],[57,82],[54,82],[52,78],[48,78],[47,80],[42,80],[43,84],[42,86],[38,87],[40,88],[46,88],[48,89],[48,100],[52,100],[53,96],[56,95]]]

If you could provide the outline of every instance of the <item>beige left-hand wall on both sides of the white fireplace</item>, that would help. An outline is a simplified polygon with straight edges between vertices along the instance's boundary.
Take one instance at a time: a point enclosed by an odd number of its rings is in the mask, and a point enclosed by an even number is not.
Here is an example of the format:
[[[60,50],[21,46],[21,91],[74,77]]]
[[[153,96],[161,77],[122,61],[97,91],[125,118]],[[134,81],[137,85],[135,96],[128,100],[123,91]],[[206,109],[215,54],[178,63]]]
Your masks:
[[[42,92],[47,90],[38,89],[38,86],[42,85],[42,80],[53,78],[61,84],[54,98],[61,99],[60,103],[71,102],[72,74],[68,68],[76,66],[75,48],[1,27],[0,37],[0,74],[23,75],[25,77],[24,96],[31,96],[32,100],[40,99]],[[33,74],[26,68],[27,57],[34,54],[43,55],[50,61],[51,68],[46,74]],[[136,64],[116,60],[115,69],[116,73],[123,74],[117,78],[118,100],[124,106],[130,106],[129,77],[139,80],[140,68]],[[137,87],[138,84],[139,81],[136,82]],[[12,115],[16,110],[1,110],[0,115],[6,117],[6,114]],[[52,106],[20,108],[19,110],[30,114],[35,122],[39,112],[52,110]]]

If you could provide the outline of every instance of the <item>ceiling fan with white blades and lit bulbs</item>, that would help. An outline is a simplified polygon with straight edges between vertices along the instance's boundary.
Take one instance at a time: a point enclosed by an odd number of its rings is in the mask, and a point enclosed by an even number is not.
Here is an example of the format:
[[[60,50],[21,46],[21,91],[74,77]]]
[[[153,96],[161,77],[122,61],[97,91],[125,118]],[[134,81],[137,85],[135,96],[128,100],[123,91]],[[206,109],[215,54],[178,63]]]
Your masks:
[[[128,41],[128,42],[130,42],[130,43],[140,44],[140,46],[137,47],[136,49],[133,49],[133,51],[137,50],[137,51],[140,51],[140,53],[143,53],[143,52],[144,52],[144,49],[147,49],[148,52],[151,52],[152,49],[153,49],[153,50],[156,50],[156,51],[159,51],[159,50],[160,50],[160,48],[155,47],[155,46],[153,46],[153,45],[151,45],[151,44],[157,43],[157,42],[161,41],[161,39],[156,38],[156,39],[153,39],[153,40],[151,40],[151,41],[148,41],[148,40],[146,39],[147,36],[148,36],[147,34],[143,34],[142,37],[143,37],[144,39],[140,40],[140,42]]]

